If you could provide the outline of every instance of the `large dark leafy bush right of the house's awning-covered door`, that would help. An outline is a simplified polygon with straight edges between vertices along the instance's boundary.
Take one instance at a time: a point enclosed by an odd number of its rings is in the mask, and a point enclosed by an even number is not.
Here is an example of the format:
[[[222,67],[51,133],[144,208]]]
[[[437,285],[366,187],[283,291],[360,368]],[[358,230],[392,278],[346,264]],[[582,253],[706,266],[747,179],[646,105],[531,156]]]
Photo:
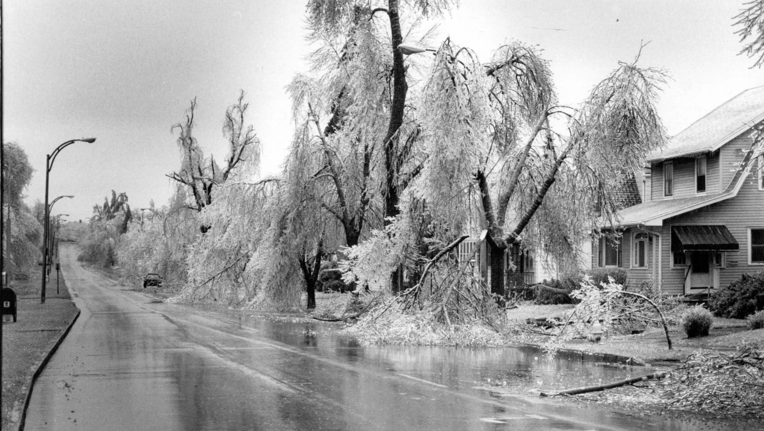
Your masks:
[[[719,317],[745,319],[756,311],[756,295],[764,294],[764,271],[743,274],[725,289],[711,293],[708,307]]]

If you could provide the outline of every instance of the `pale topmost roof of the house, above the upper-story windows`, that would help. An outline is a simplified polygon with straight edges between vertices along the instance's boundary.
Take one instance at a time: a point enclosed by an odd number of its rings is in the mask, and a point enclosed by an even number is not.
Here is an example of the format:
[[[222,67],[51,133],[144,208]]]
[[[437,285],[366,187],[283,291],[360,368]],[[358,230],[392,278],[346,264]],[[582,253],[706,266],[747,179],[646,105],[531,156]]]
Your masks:
[[[762,120],[764,86],[749,88],[677,133],[661,150],[649,153],[647,162],[718,150]]]

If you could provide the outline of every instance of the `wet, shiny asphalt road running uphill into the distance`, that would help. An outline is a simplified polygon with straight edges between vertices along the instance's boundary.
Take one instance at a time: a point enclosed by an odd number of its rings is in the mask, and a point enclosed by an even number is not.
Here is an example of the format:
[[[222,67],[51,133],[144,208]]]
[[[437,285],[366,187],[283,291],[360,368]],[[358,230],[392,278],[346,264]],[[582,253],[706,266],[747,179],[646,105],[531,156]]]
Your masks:
[[[321,326],[152,303],[76,252],[62,246],[61,261],[82,314],[34,386],[27,430],[694,429],[476,388],[525,366],[514,349],[364,347]]]

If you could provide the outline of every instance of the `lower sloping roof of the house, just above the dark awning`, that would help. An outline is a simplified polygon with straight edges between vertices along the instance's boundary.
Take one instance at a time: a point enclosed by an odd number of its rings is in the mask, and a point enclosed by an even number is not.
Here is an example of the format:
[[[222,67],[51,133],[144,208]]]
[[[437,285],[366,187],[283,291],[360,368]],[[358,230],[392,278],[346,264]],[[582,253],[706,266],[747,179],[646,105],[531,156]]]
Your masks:
[[[662,226],[663,220],[668,218],[734,198],[751,172],[754,156],[753,148],[749,149],[743,157],[743,161],[740,162],[740,166],[736,169],[730,185],[720,193],[707,196],[691,196],[689,198],[661,199],[634,205],[633,207],[618,211],[616,223],[614,224],[620,227],[637,225]]]

